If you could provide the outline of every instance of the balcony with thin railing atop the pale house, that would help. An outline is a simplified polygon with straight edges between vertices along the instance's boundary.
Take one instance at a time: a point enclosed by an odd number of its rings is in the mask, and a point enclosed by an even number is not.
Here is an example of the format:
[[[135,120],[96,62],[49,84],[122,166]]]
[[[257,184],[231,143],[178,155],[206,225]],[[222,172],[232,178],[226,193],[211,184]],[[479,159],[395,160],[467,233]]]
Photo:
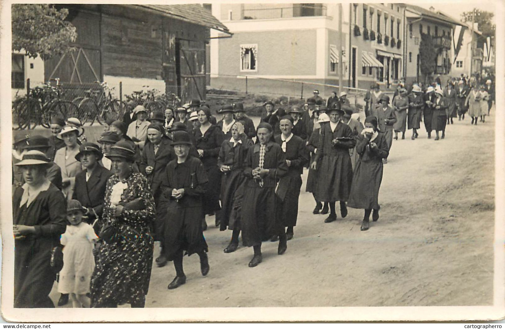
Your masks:
[[[277,19],[307,16],[326,16],[326,6],[313,5],[256,5],[242,10],[242,19]]]

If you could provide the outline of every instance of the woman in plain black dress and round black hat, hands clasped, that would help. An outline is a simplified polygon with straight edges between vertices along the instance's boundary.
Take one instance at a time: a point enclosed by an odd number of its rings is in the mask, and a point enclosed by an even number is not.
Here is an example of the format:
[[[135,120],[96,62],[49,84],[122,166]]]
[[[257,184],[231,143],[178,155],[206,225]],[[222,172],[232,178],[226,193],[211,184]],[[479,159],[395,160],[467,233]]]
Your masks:
[[[187,132],[175,131],[172,145],[177,159],[168,163],[162,187],[168,200],[163,253],[167,260],[174,261],[176,271],[168,289],[186,283],[182,267],[184,252],[188,256],[198,254],[201,275],[206,276],[210,269],[208,247],[201,227],[207,173],[201,161],[189,154],[192,143]]]

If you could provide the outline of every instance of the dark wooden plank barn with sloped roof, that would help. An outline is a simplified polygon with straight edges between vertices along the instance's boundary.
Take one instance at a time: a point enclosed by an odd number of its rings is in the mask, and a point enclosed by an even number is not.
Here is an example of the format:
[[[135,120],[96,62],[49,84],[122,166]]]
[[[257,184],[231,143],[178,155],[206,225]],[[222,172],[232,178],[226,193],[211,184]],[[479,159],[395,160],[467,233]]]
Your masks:
[[[198,4],[55,6],[69,10],[76,51],[45,61],[44,80],[106,81],[116,92],[121,81],[124,95],[149,86],[205,99],[210,29],[231,34]]]

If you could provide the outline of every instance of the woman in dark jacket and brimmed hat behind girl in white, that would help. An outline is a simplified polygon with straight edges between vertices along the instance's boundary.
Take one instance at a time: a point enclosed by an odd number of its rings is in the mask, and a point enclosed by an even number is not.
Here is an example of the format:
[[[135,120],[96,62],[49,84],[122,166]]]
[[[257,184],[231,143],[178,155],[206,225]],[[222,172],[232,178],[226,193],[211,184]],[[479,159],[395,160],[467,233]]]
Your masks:
[[[93,229],[98,234],[103,223],[102,217],[105,199],[105,186],[112,172],[98,163],[104,154],[94,143],[84,143],[79,148],[75,158],[81,162],[83,171],[75,175],[75,188],[72,199],[78,200],[83,207],[88,208],[86,216],[89,224],[95,224]],[[96,223],[95,220],[98,221]]]

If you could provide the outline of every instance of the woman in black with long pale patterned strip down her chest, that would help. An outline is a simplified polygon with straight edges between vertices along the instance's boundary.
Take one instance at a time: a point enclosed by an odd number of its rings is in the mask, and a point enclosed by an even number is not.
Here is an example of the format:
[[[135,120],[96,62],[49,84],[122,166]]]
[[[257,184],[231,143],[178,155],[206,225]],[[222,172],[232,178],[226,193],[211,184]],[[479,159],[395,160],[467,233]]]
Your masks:
[[[273,128],[269,123],[260,122],[256,129],[258,144],[250,147],[244,164],[247,177],[240,226],[242,240],[246,247],[254,249],[254,257],[249,267],[255,267],[263,260],[261,244],[273,236],[279,236],[277,254],[287,249],[287,238],[279,216],[279,198],[275,194],[277,180],[286,175],[288,167],[282,148],[272,142]]]

